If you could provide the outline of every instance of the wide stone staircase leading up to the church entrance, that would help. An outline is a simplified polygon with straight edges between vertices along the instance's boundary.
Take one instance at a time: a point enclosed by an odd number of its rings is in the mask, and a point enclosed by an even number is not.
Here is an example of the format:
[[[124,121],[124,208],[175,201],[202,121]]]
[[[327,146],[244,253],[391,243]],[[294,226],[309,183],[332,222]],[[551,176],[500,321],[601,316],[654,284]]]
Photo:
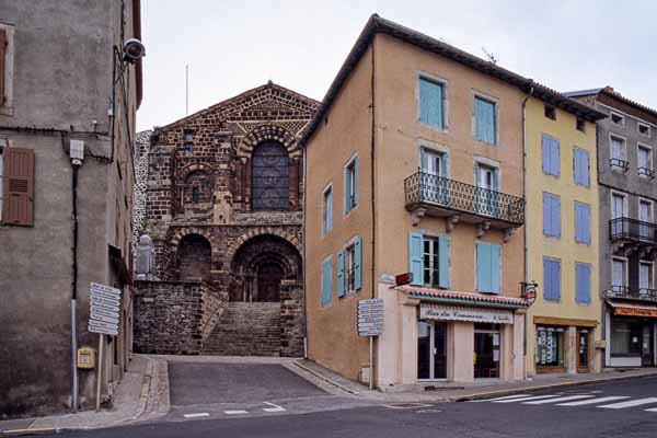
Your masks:
[[[203,354],[280,356],[280,303],[229,302]]]

